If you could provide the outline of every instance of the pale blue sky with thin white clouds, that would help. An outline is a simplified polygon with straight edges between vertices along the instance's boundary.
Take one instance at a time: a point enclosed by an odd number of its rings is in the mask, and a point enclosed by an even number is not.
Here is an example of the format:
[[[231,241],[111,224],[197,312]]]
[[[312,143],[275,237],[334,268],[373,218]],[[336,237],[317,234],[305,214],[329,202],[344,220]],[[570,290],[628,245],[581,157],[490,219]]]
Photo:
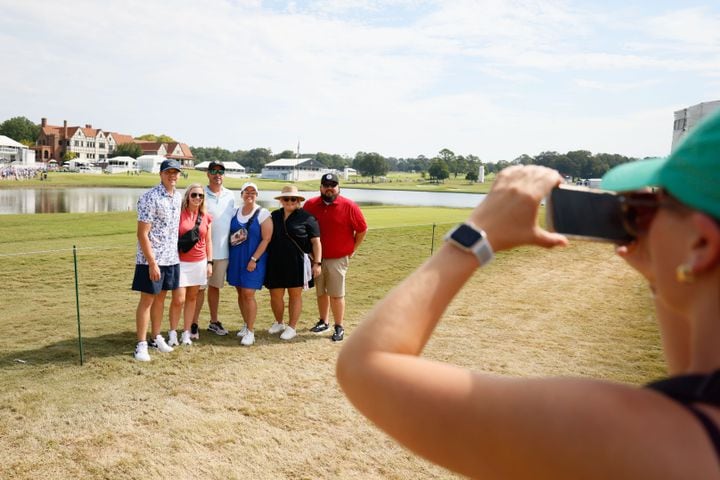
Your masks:
[[[0,0],[0,120],[485,161],[668,153],[720,100],[720,4]]]

